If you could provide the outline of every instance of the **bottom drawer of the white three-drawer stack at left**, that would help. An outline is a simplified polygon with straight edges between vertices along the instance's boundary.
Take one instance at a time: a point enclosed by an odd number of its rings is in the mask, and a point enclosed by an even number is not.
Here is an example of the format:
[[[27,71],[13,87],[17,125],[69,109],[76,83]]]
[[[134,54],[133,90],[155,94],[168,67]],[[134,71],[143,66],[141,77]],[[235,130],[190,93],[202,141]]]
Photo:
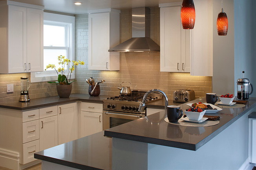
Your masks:
[[[39,139],[22,144],[22,164],[37,160],[34,158],[35,152],[39,152]]]

